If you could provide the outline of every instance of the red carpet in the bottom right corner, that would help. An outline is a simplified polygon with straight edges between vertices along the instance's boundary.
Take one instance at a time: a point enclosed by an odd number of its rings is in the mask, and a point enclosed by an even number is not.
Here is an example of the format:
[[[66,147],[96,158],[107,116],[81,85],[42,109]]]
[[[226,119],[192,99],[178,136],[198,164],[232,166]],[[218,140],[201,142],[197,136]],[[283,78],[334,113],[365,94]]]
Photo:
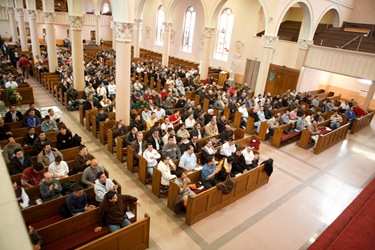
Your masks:
[[[375,179],[308,249],[375,249]]]

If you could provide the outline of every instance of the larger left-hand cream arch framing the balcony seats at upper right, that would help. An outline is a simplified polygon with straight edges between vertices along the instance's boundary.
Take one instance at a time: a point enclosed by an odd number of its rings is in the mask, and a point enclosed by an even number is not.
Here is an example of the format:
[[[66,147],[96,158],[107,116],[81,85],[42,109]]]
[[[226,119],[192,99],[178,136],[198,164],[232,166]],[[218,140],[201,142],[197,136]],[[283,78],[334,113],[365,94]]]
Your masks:
[[[313,8],[307,0],[293,0],[288,4],[288,6],[284,9],[282,15],[280,16],[277,22],[277,26],[276,26],[277,28],[275,30],[274,35],[277,36],[284,16],[289,11],[289,9],[295,4],[299,4],[302,10],[302,14],[303,14],[302,25],[301,25],[301,29],[299,32],[298,40],[301,40],[301,39],[312,40],[314,36],[314,33],[312,32]]]

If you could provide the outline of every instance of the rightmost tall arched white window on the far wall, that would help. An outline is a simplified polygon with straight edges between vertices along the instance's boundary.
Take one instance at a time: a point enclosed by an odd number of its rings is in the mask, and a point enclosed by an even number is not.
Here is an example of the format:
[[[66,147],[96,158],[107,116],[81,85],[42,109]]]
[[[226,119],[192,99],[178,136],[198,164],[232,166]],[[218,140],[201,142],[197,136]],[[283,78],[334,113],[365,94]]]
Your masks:
[[[234,15],[231,9],[225,9],[220,16],[215,59],[228,61],[230,38],[232,36]]]

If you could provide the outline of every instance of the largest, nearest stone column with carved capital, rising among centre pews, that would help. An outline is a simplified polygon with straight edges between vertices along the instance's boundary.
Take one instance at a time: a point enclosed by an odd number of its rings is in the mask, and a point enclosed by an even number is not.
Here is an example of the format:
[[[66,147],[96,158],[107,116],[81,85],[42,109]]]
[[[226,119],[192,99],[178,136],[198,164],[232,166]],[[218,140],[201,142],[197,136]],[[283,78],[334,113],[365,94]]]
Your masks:
[[[130,60],[132,23],[113,22],[116,34],[116,119],[130,125]]]

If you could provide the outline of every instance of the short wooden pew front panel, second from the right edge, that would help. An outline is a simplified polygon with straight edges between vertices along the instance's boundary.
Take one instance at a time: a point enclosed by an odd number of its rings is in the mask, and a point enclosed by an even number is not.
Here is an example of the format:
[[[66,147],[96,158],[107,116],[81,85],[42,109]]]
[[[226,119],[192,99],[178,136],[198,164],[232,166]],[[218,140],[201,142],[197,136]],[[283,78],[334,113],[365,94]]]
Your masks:
[[[347,123],[335,130],[332,130],[327,134],[319,136],[316,146],[314,148],[314,154],[319,154],[327,148],[344,140],[346,138],[346,134],[348,133],[349,126],[350,124]]]

